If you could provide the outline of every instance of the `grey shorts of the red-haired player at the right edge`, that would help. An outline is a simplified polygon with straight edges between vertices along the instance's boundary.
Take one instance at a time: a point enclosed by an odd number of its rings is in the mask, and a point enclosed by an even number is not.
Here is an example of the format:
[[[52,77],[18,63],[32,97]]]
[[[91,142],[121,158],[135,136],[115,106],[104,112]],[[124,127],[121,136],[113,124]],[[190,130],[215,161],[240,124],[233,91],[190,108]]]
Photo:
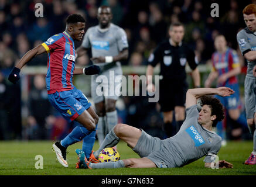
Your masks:
[[[254,118],[255,105],[256,105],[256,79],[245,77],[244,81],[244,100],[245,100],[245,112],[246,118]]]

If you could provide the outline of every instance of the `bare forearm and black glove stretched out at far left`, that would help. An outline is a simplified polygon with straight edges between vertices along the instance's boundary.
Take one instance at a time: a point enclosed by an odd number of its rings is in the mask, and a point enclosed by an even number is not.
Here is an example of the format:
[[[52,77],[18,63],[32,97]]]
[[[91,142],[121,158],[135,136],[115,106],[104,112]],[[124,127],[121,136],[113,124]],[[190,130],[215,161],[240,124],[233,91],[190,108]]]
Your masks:
[[[28,53],[26,53],[21,58],[19,63],[17,65],[15,65],[15,67],[12,69],[12,72],[10,73],[10,75],[8,77],[9,81],[11,81],[13,84],[16,84],[16,82],[19,81],[19,72],[21,71],[21,68],[26,63],[28,63],[30,60],[32,60],[32,58],[38,56],[39,54],[43,54],[43,53],[46,53],[46,49],[42,45],[39,45],[39,46],[35,47],[34,49],[28,51]]]

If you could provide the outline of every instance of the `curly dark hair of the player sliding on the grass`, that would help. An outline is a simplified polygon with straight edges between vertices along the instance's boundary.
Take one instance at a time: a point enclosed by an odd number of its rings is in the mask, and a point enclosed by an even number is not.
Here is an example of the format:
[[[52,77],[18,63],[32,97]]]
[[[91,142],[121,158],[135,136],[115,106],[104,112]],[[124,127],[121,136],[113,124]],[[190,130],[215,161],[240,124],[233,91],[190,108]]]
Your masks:
[[[211,116],[216,115],[216,119],[213,121],[213,127],[216,127],[217,123],[224,119],[224,108],[220,102],[220,99],[213,98],[209,95],[204,95],[200,98],[200,100],[201,106],[210,106]]]

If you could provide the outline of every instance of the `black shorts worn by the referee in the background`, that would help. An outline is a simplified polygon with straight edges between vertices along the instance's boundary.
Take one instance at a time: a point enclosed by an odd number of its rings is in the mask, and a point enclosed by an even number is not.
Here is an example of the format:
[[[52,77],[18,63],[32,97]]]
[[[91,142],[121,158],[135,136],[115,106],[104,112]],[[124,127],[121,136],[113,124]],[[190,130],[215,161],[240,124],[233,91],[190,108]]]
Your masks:
[[[187,82],[161,79],[159,82],[159,104],[162,112],[169,112],[175,106],[185,106]]]

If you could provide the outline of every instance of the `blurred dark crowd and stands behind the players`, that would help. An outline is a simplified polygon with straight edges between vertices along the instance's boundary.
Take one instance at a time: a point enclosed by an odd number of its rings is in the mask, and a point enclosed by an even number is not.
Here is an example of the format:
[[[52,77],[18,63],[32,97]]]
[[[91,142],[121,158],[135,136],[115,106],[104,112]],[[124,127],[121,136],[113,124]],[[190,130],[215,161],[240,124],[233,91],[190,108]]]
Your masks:
[[[43,4],[43,18],[36,18],[35,4]],[[219,4],[219,18],[210,16],[210,5]],[[98,24],[97,8],[109,5],[112,22],[125,29],[129,42],[129,59],[122,62],[125,75],[145,74],[147,58],[156,45],[168,37],[168,26],[179,20],[185,24],[184,41],[196,51],[200,60],[201,85],[210,71],[208,60],[214,51],[213,39],[223,33],[228,46],[238,51],[243,71],[239,76],[241,111],[246,63],[237,46],[236,34],[245,27],[243,8],[256,1],[6,1],[0,0],[0,140],[55,140],[73,128],[50,106],[44,82],[47,54],[34,58],[22,70],[21,81],[12,85],[9,72],[30,49],[50,36],[63,32],[65,19],[80,13],[87,19],[86,29]],[[76,47],[81,43],[76,43]],[[76,65],[90,65],[90,56],[79,58]],[[189,75],[188,81],[191,84]],[[74,84],[90,98],[90,77],[76,75]],[[175,89],[175,88],[173,88]],[[162,116],[156,103],[147,97],[123,96],[117,103],[119,121],[145,129],[152,136],[165,137]],[[234,129],[241,133],[234,136]],[[246,128],[227,120],[228,138],[248,140]],[[238,131],[239,132],[239,131]]]

